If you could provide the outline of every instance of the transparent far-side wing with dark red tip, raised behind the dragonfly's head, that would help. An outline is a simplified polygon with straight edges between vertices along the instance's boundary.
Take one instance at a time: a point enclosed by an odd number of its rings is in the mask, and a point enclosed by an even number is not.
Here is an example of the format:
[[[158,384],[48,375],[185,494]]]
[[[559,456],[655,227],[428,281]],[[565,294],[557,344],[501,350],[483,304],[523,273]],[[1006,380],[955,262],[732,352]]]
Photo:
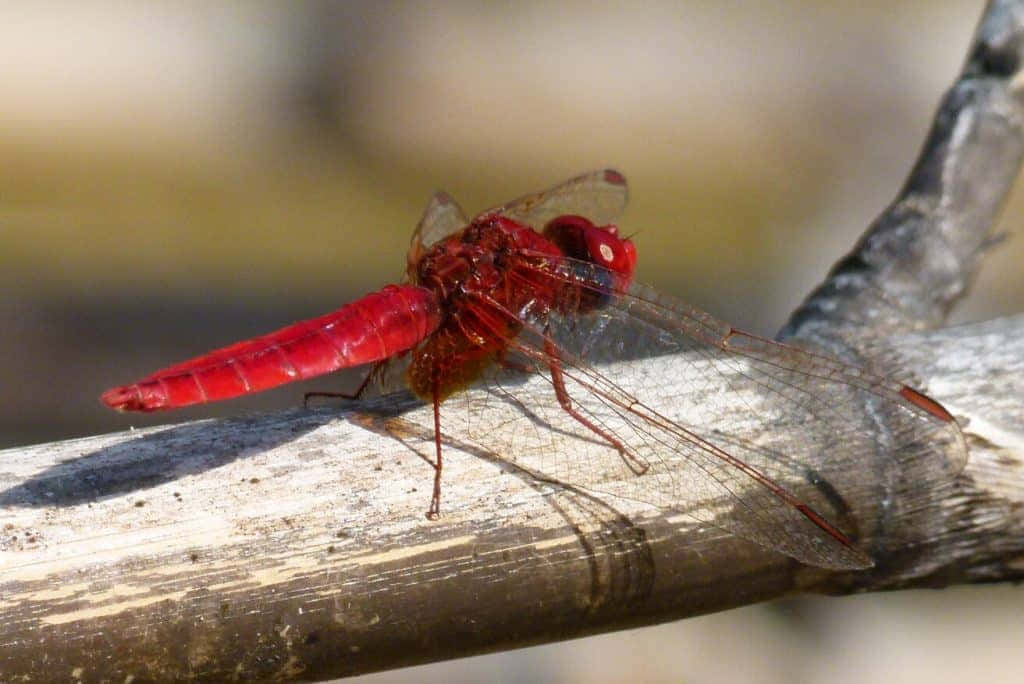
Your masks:
[[[525,195],[478,215],[502,214],[535,230],[542,229],[548,221],[564,214],[586,216],[597,225],[607,225],[618,220],[628,200],[629,190],[623,174],[614,169],[601,169],[541,193]]]

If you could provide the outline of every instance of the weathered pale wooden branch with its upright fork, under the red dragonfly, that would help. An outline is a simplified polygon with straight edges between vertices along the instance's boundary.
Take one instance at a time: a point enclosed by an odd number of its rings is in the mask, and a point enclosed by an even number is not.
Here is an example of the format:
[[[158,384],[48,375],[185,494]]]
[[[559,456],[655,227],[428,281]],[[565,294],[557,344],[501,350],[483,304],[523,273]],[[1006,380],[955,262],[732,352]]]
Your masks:
[[[428,521],[431,472],[410,448],[423,409],[391,397],[0,453],[0,673],[326,679],[796,592],[1021,579],[1024,316],[902,332],[940,320],[966,288],[1016,175],[1021,5],[986,10],[914,175],[876,224],[884,238],[787,329],[826,343],[856,328],[859,353],[915,378],[969,439],[955,489],[899,544],[864,538],[874,568],[808,567],[455,448],[445,515]],[[884,335],[868,344],[871,332]],[[647,362],[664,372],[665,358]]]

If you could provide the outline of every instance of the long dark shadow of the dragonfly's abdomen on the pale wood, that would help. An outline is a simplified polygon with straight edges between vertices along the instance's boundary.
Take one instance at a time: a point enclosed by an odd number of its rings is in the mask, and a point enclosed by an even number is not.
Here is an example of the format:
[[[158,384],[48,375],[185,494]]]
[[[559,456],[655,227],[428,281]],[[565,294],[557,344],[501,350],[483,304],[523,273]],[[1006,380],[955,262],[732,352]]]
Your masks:
[[[162,429],[47,468],[0,491],[0,506],[77,506],[145,489],[260,454],[337,418],[296,409]]]

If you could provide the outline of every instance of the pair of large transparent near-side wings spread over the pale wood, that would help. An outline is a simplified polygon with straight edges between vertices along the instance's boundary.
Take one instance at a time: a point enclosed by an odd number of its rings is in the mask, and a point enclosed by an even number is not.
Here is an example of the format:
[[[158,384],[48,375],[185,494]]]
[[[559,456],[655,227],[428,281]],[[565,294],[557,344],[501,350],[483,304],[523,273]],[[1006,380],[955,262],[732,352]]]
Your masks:
[[[565,284],[599,290],[580,281],[587,269],[564,271]],[[966,461],[951,417],[899,382],[642,286],[597,311],[522,323],[505,367],[532,380],[496,371],[483,399],[442,404],[442,430],[611,504],[678,511],[806,563],[859,568],[871,561],[855,541],[881,528],[889,541]],[[889,508],[857,508],[879,501]]]

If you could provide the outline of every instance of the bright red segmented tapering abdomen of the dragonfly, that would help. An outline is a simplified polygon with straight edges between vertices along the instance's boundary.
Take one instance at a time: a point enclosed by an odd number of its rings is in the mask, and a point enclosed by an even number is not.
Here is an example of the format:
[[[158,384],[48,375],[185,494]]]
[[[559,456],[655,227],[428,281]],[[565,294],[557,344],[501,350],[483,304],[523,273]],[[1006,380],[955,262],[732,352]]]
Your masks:
[[[390,285],[340,309],[157,371],[100,399],[121,411],[159,411],[227,399],[412,348],[440,324],[436,295]]]

